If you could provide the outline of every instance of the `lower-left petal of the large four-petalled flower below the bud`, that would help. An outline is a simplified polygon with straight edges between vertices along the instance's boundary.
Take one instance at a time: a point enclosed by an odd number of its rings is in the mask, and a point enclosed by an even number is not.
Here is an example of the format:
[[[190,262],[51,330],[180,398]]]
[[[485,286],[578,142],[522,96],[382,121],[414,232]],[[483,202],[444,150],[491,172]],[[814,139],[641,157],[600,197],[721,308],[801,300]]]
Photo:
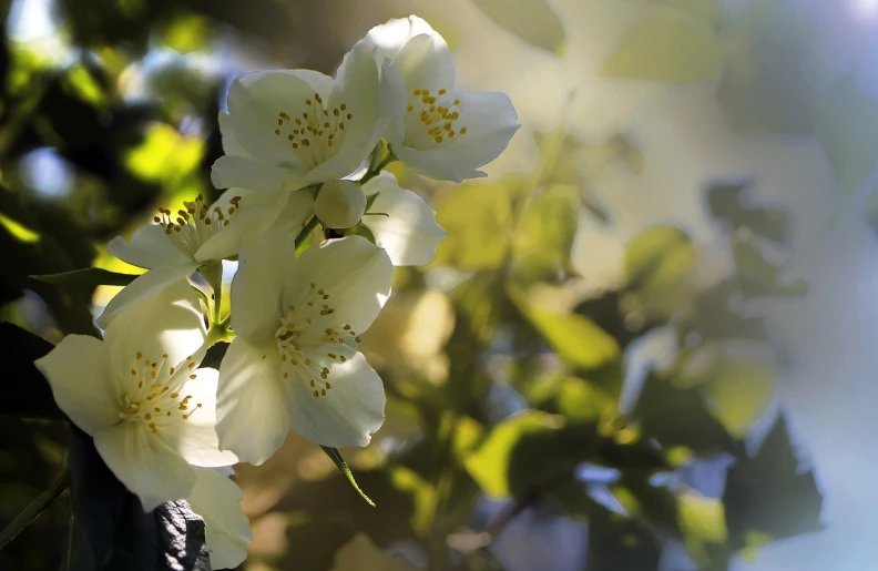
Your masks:
[[[273,340],[259,346],[241,337],[232,341],[220,366],[216,432],[220,447],[243,462],[263,463],[286,440],[289,416],[279,380]]]

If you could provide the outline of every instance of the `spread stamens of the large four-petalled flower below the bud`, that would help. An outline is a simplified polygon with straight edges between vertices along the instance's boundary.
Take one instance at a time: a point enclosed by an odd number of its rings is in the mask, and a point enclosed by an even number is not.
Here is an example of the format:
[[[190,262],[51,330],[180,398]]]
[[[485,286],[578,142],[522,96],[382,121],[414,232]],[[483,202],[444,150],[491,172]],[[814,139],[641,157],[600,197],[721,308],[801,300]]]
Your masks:
[[[275,332],[283,378],[293,375],[307,383],[314,398],[325,397],[333,388],[327,365],[347,361],[356,354],[349,343],[360,340],[350,325],[338,325],[328,299],[328,293],[310,284],[300,299],[280,314],[280,327]]]

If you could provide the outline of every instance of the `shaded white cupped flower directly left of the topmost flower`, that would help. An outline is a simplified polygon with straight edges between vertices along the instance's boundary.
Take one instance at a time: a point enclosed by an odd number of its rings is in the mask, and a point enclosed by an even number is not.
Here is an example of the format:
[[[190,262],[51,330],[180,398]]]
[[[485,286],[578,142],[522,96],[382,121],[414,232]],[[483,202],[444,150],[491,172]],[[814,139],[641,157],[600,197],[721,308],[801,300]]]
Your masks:
[[[335,80],[310,70],[236,79],[228,114],[220,114],[226,154],[214,163],[214,185],[293,191],[344,179],[387,128],[381,86],[367,45],[345,55]]]

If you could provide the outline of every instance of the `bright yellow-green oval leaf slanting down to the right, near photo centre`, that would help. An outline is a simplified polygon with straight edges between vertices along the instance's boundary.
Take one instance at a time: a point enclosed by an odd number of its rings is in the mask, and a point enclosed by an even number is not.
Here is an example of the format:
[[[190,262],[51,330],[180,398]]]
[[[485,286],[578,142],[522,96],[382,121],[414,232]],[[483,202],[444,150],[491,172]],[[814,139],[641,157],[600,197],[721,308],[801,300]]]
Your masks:
[[[528,318],[573,369],[596,369],[621,357],[615,339],[588,317],[531,309]]]

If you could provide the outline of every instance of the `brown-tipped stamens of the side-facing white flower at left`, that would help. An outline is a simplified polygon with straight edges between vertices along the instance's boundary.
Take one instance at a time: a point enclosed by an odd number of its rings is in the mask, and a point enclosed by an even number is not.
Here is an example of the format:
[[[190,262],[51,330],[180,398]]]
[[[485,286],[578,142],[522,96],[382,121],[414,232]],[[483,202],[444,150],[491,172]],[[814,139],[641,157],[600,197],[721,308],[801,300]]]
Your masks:
[[[195,257],[198,248],[207,239],[228,225],[228,220],[241,208],[241,196],[229,201],[232,205],[223,212],[220,206],[211,210],[204,204],[204,196],[198,196],[193,202],[184,202],[185,210],[178,210],[176,218],[170,210],[160,207],[161,216],[153,216],[153,221],[165,230],[171,242],[188,257]]]

